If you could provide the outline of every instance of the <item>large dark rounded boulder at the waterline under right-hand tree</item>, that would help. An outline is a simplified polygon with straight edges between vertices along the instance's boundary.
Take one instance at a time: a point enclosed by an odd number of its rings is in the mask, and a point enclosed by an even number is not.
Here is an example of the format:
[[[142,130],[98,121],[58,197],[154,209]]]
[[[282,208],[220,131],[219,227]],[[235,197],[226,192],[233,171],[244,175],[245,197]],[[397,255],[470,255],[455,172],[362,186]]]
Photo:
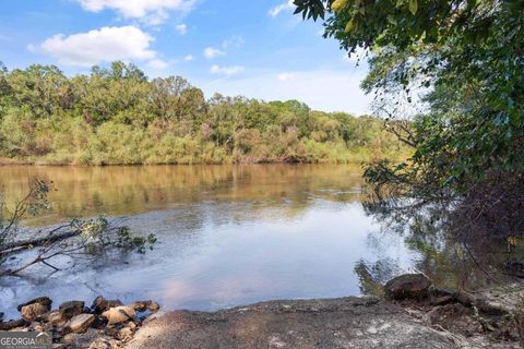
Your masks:
[[[405,274],[388,281],[385,296],[391,299],[426,299],[431,281],[424,274]]]

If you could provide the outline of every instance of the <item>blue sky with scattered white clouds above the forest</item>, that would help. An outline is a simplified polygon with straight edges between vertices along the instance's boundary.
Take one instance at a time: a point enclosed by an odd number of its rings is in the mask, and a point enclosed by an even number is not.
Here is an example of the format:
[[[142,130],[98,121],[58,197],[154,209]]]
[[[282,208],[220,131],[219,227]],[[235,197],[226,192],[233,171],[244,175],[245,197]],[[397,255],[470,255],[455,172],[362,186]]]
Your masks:
[[[12,0],[0,13],[0,60],[9,69],[56,64],[69,75],[123,60],[150,77],[184,76],[207,97],[368,111],[358,87],[366,64],[321,32],[287,0]]]

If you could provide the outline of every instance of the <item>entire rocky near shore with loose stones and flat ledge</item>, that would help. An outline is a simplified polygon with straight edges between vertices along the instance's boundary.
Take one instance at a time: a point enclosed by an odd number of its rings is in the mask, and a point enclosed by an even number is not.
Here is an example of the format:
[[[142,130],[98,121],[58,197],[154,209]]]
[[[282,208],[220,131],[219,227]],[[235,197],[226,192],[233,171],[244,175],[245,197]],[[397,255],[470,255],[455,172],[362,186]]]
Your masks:
[[[522,285],[468,293],[421,274],[396,277],[383,298],[270,301],[218,312],[159,312],[154,301],[95,299],[51,310],[41,297],[19,305],[1,330],[50,332],[56,348],[520,348]],[[520,334],[521,333],[521,334]]]

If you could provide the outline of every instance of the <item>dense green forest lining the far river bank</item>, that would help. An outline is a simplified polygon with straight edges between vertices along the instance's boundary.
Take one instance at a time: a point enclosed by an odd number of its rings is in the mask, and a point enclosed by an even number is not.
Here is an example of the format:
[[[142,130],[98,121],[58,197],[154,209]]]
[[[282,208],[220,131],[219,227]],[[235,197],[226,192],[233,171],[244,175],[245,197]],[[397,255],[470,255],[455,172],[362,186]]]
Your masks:
[[[401,151],[400,151],[401,149]],[[0,157],[53,165],[350,163],[407,154],[383,121],[148,80],[133,64],[1,70]]]

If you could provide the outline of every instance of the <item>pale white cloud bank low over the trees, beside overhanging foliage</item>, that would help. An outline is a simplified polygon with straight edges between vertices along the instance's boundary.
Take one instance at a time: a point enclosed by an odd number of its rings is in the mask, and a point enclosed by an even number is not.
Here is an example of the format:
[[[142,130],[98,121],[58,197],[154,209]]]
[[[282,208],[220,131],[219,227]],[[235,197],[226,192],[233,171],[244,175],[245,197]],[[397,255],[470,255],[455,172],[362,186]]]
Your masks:
[[[317,110],[360,115],[370,111],[372,101],[372,96],[365,95],[359,87],[366,72],[366,69],[294,71],[281,74],[259,71],[237,79],[200,85],[209,96],[218,92],[265,100],[298,99]]]

